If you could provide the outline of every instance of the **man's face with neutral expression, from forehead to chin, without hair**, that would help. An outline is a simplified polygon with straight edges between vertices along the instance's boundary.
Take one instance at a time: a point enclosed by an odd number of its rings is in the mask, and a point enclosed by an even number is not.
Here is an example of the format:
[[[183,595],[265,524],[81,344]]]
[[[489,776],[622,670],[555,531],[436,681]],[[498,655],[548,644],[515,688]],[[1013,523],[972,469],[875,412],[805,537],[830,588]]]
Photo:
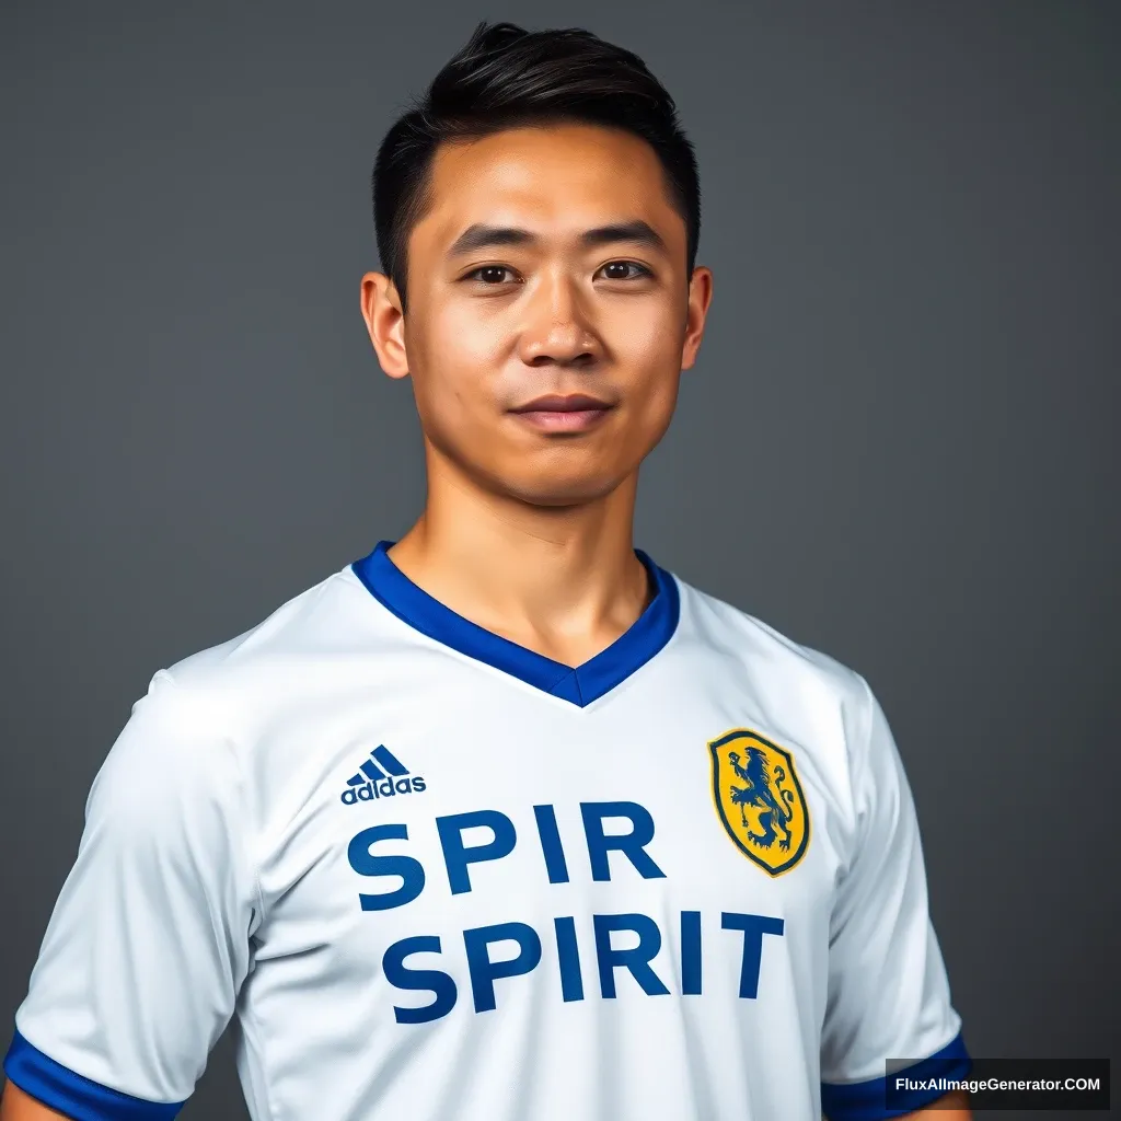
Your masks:
[[[512,129],[442,146],[428,192],[393,369],[379,348],[427,441],[493,493],[609,493],[668,427],[708,300],[657,157],[615,130]]]

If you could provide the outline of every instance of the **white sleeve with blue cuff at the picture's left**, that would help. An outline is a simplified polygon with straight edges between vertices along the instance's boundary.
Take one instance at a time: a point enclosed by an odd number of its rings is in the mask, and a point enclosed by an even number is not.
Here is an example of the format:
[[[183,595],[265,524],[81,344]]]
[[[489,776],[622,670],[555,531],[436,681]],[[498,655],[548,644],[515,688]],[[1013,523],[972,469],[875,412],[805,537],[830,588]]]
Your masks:
[[[217,723],[160,671],[94,779],[4,1059],[67,1117],[174,1117],[233,1013],[260,897]]]

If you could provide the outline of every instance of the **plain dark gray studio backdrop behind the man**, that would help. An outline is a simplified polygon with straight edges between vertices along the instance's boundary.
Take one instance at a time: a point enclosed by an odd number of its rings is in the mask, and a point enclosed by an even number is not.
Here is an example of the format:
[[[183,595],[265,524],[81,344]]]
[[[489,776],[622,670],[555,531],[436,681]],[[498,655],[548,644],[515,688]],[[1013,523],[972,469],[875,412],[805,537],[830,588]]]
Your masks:
[[[419,508],[368,178],[482,17],[639,52],[697,146],[638,543],[877,691],[973,1053],[1115,1067],[1121,9],[1075,0],[3,0],[2,1047],[152,673]],[[183,1117],[244,1115],[225,1039]]]

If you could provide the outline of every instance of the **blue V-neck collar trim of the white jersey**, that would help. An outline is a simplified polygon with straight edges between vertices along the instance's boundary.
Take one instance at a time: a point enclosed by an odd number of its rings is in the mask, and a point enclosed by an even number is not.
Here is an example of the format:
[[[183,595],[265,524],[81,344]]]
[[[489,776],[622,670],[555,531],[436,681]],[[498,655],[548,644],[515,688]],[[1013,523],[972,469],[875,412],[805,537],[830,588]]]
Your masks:
[[[379,541],[369,556],[351,565],[354,575],[379,603],[421,634],[580,707],[610,693],[645,666],[677,629],[680,602],[676,581],[641,549],[636,549],[636,556],[646,565],[654,582],[654,599],[630,630],[605,650],[582,666],[565,666],[444,606],[393,564],[388,554],[393,544]]]

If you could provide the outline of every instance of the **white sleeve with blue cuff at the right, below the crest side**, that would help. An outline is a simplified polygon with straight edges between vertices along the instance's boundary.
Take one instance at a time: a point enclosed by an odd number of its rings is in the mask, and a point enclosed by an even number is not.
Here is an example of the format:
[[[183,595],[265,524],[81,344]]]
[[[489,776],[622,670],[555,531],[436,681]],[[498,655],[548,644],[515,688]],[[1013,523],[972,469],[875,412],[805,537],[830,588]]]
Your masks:
[[[854,849],[834,900],[822,1031],[822,1106],[830,1121],[897,1117],[941,1096],[886,1108],[886,1073],[967,1073],[961,1017],[930,921],[918,821],[879,702],[860,678],[851,758]]]

